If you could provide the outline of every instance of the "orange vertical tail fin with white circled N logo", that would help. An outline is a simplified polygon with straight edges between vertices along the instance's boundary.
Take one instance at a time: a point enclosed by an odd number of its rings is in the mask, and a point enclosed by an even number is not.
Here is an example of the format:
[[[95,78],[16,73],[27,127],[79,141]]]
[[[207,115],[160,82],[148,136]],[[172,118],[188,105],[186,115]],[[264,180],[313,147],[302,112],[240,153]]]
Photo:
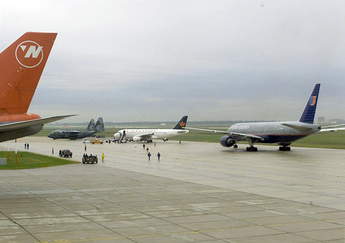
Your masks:
[[[27,32],[0,53],[0,114],[28,111],[56,36]]]

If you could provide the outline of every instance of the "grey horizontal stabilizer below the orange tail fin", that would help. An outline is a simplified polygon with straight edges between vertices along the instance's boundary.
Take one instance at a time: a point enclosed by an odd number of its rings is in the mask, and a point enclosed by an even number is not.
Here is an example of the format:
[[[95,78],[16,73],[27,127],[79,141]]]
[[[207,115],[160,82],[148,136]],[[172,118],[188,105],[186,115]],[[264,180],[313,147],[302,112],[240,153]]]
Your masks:
[[[29,121],[20,121],[20,122],[13,122],[9,124],[0,125],[0,132],[7,132],[7,131],[13,131],[16,129],[26,128],[30,126],[35,125],[41,125],[45,123],[50,123],[54,121],[59,121],[62,119],[65,119],[67,117],[76,116],[76,115],[66,115],[66,116],[51,116],[46,118],[40,118],[35,120],[29,120]]]

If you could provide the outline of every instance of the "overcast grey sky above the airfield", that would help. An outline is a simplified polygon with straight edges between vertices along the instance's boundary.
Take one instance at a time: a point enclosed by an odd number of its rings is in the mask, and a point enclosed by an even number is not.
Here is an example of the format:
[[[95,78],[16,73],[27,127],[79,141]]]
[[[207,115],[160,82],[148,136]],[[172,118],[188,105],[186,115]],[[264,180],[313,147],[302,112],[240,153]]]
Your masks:
[[[29,108],[66,122],[345,119],[345,1],[3,1],[0,48],[58,36]]]

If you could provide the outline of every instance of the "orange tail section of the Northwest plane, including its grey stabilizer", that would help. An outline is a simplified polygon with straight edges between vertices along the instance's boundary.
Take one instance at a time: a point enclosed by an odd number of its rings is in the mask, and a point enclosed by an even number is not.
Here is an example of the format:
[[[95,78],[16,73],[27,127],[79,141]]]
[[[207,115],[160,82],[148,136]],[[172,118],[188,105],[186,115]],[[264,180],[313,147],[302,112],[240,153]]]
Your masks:
[[[57,33],[27,32],[0,53],[0,142],[39,132],[67,116],[28,114]]]

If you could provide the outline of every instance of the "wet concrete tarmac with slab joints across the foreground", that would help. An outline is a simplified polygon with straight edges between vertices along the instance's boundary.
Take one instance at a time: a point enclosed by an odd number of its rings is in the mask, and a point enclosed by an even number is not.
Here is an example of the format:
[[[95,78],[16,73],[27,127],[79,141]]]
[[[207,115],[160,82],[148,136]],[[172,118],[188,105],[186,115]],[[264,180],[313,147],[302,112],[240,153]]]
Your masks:
[[[81,140],[25,142],[84,154]],[[345,241],[345,151],[156,141],[149,161],[142,144],[86,144],[98,164],[0,170],[0,242]]]

